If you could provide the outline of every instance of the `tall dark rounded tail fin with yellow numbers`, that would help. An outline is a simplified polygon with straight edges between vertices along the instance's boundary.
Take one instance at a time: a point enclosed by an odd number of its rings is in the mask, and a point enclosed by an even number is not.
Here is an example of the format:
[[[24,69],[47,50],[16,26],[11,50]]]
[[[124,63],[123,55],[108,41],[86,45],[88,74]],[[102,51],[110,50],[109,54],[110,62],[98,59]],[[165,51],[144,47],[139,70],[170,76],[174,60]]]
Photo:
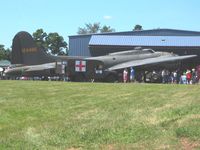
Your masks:
[[[25,31],[15,35],[12,43],[12,64],[35,65],[55,61],[35,44],[32,36]]]

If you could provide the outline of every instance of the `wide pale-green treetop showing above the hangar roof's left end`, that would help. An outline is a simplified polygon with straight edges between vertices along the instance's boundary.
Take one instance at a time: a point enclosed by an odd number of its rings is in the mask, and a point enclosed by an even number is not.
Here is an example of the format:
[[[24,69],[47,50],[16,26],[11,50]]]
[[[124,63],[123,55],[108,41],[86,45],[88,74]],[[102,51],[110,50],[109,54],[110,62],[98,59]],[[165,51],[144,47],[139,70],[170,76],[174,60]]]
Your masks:
[[[91,33],[104,33],[104,32],[114,32],[115,29],[111,28],[110,26],[104,25],[101,28],[101,25],[99,22],[96,23],[88,23],[85,24],[85,27],[83,28],[78,28],[78,34],[91,34]]]

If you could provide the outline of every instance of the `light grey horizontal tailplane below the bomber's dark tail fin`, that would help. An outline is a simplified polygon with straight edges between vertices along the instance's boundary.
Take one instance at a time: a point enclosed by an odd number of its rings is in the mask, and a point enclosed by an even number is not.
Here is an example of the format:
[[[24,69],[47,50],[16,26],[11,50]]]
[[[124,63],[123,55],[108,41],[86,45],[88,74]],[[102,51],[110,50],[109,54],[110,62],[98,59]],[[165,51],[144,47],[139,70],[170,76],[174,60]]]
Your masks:
[[[25,72],[42,71],[42,70],[52,69],[52,68],[56,68],[56,64],[55,63],[32,65],[32,66],[27,66],[27,68],[25,69]]]

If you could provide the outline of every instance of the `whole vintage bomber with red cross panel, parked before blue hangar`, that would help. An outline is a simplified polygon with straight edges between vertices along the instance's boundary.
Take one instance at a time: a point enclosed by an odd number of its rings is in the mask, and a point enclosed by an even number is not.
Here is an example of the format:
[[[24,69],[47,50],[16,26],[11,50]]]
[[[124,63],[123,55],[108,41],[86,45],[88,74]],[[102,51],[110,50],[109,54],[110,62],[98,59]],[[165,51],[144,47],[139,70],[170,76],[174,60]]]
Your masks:
[[[5,70],[9,77],[68,76],[72,81],[116,81],[125,68],[138,70],[176,69],[197,55],[178,56],[169,52],[137,48],[105,56],[52,56],[37,48],[32,36],[25,31],[13,39],[12,61]]]

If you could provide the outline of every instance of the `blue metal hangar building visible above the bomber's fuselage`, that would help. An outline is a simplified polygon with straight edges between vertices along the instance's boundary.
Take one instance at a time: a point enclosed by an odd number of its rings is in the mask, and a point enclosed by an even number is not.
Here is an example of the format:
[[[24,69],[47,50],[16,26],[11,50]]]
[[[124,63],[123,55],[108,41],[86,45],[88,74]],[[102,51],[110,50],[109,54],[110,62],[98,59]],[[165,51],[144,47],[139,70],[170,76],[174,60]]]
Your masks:
[[[69,36],[70,56],[100,56],[138,46],[180,55],[200,53],[200,32],[153,29]]]

